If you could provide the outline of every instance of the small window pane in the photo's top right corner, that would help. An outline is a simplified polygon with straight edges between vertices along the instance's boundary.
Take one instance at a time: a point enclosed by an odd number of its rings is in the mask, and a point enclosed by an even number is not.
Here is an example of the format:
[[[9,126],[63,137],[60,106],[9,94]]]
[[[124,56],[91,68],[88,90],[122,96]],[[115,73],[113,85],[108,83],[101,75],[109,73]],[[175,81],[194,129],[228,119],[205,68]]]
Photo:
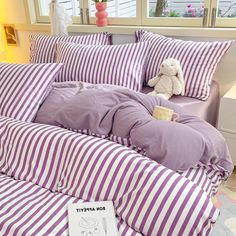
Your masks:
[[[219,0],[218,17],[236,17],[236,0]]]

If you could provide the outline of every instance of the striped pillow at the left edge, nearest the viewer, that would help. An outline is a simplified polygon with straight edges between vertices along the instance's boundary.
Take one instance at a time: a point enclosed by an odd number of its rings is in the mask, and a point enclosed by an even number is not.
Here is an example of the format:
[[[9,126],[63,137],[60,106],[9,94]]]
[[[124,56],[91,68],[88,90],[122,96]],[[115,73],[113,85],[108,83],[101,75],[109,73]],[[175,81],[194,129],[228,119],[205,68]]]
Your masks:
[[[0,63],[0,115],[32,121],[61,67]]]

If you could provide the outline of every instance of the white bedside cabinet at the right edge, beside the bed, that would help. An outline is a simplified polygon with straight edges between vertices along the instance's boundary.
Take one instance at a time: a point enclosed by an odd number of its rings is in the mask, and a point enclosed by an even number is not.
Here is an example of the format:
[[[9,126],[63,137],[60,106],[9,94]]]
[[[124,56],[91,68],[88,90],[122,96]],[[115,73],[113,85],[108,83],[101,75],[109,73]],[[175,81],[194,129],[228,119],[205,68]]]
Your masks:
[[[236,166],[236,84],[220,100],[218,130],[225,137]]]

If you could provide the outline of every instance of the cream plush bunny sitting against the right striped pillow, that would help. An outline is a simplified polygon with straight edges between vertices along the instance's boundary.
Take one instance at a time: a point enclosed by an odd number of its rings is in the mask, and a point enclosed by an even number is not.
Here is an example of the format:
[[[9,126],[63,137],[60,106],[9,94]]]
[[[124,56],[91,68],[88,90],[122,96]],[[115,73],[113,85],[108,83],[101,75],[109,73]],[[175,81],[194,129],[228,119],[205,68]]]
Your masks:
[[[178,60],[168,58],[162,62],[158,76],[148,81],[154,91],[150,95],[169,99],[172,95],[184,96],[185,85],[183,71]]]

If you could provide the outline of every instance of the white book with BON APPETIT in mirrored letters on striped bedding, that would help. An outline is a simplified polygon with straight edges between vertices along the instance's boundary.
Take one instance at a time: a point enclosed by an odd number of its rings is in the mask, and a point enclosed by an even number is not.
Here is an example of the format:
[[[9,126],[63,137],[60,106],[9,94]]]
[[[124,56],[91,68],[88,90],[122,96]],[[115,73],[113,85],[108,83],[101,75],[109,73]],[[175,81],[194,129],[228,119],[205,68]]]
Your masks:
[[[68,206],[69,236],[119,236],[112,201]]]

